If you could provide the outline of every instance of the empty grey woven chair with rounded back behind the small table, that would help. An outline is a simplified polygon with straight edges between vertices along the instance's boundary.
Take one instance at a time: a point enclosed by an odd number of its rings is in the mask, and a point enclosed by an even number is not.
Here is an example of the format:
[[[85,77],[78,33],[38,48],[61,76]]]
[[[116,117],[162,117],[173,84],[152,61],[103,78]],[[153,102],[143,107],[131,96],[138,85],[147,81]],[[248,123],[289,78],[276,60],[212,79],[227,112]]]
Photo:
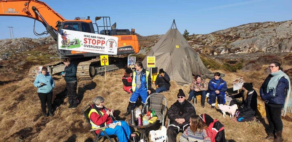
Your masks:
[[[167,110],[165,96],[159,93],[152,93],[146,98],[146,102],[148,102],[148,100],[150,100],[149,105],[150,105],[151,110],[152,108],[154,108],[155,114],[158,117],[157,120],[159,120],[162,123],[162,126],[164,126],[164,122],[166,118],[165,110]],[[143,106],[142,112],[144,112],[145,109],[146,109],[146,105]]]

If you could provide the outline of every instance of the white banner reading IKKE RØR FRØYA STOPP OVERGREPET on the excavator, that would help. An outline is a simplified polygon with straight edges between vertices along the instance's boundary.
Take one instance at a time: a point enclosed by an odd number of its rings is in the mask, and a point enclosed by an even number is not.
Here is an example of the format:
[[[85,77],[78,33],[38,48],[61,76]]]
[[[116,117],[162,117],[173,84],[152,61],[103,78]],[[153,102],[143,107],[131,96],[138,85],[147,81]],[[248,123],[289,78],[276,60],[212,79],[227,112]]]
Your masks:
[[[59,49],[117,55],[118,37],[61,29]]]

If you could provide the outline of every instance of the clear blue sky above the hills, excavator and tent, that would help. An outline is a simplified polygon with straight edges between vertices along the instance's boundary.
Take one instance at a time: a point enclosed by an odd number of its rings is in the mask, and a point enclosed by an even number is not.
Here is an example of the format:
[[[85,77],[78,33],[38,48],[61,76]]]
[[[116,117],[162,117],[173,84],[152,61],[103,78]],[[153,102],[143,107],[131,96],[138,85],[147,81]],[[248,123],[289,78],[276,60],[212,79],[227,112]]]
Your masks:
[[[251,22],[292,19],[291,0],[168,0],[168,1],[95,1],[44,0],[65,19],[90,16],[110,16],[118,29],[131,29],[143,36],[165,34],[175,19],[178,30],[190,34],[207,34]],[[0,16],[0,39],[14,37],[38,38],[33,34],[34,20],[17,16]],[[36,31],[46,29],[36,21]],[[42,36],[42,37],[46,37]]]

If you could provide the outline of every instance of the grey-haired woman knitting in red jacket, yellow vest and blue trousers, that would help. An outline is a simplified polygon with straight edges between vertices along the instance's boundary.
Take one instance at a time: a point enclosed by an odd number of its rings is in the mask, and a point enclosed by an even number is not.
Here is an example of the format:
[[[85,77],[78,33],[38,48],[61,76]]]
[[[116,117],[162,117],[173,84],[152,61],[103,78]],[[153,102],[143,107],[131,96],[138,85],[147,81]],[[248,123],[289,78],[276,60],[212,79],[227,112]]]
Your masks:
[[[112,112],[114,110],[109,110],[104,107],[104,98],[97,96],[92,100],[91,110],[88,114],[90,118],[90,123],[92,129],[108,126],[104,131],[108,135],[116,134],[119,141],[129,141],[131,129],[126,121],[113,121]],[[95,133],[98,134],[100,130],[95,130]],[[103,132],[100,134],[105,136]]]

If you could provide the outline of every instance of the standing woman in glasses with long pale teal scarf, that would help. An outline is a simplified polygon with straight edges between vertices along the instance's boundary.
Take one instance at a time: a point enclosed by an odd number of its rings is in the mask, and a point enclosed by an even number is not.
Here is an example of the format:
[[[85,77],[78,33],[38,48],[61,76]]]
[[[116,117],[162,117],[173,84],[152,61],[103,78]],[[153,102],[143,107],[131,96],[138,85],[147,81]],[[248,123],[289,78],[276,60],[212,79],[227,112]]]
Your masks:
[[[272,62],[269,66],[270,75],[265,79],[260,87],[260,97],[265,101],[266,115],[269,122],[269,134],[265,139],[276,138],[274,142],[283,141],[283,122],[281,115],[287,111],[291,83],[278,62]],[[289,104],[290,105],[290,104]]]

